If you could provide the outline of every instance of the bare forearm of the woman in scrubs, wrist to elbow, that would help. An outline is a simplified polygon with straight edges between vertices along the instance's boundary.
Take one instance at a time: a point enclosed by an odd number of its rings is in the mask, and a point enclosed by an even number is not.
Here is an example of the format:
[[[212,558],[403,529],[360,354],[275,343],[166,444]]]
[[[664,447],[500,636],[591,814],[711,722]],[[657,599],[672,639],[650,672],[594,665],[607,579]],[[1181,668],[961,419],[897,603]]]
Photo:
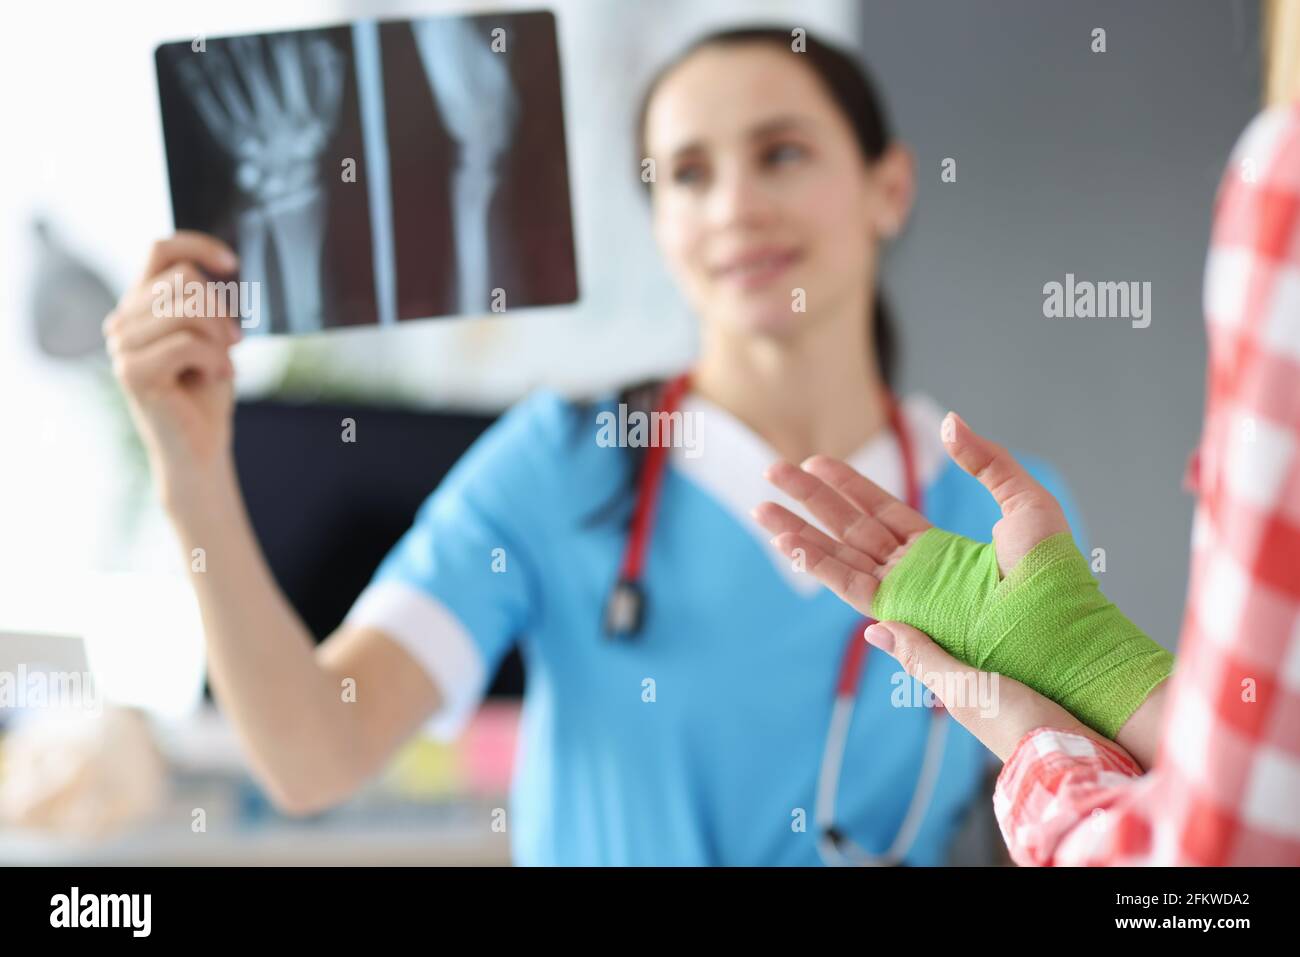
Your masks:
[[[233,463],[192,477],[166,506],[199,598],[213,690],[259,780],[287,810],[342,800],[363,776],[358,722],[266,566]]]

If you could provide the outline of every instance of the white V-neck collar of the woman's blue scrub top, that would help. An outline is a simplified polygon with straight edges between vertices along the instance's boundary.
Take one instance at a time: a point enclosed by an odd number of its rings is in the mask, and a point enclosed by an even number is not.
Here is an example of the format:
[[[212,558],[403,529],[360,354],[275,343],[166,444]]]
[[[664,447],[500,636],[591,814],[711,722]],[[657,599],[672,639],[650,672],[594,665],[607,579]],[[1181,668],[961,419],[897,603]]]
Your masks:
[[[818,580],[796,572],[770,545],[772,536],[749,514],[759,502],[771,499],[822,528],[802,505],[763,478],[763,471],[780,456],[731,412],[696,393],[682,398],[681,411],[697,417],[696,449],[688,455],[681,446],[673,446],[670,454],[672,467],[712,495],[754,536],[790,588],[803,596],[816,594],[820,589]],[[924,489],[948,459],[939,438],[944,410],[928,395],[914,394],[902,400],[901,411],[904,428],[911,438],[916,478]],[[885,429],[874,436],[846,462],[889,494],[905,497],[902,452],[892,430]]]

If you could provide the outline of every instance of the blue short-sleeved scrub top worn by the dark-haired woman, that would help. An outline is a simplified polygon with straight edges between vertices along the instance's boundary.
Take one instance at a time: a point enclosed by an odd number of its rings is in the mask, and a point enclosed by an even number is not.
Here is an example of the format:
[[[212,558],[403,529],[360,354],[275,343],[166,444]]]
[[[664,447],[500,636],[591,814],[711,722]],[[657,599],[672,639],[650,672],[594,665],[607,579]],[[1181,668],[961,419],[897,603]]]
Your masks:
[[[633,499],[627,450],[595,439],[595,416],[615,408],[538,393],[507,412],[429,497],[351,618],[385,628],[429,668],[459,713],[452,733],[520,644],[526,692],[507,814],[516,863],[819,863],[815,784],[861,619],[826,589],[790,588],[775,550],[671,465],[642,631],[607,638],[602,610]],[[1019,458],[1083,546],[1060,478]],[[982,541],[1000,518],[983,486],[937,459],[924,507],[936,525]],[[871,853],[902,823],[931,720],[930,709],[893,706],[898,672],[867,654],[837,793],[836,823]],[[994,763],[942,720],[941,775],[911,865],[945,861]]]

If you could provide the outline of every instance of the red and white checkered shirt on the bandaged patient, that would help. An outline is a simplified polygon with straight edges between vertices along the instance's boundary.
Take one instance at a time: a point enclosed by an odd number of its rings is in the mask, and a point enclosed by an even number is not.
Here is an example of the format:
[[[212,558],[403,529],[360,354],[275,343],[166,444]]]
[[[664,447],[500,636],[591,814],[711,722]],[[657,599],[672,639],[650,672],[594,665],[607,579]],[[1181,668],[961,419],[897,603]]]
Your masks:
[[[1300,104],[1219,187],[1192,568],[1156,763],[1039,728],[993,793],[1022,865],[1300,865]]]

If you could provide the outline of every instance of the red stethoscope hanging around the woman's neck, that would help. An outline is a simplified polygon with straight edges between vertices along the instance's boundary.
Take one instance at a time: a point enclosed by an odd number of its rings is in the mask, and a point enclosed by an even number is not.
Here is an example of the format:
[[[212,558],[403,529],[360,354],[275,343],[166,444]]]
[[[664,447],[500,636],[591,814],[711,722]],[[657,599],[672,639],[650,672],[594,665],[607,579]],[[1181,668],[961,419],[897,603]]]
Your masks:
[[[653,437],[645,450],[645,459],[637,475],[636,506],[632,511],[632,525],[623,551],[623,564],[604,607],[604,632],[611,638],[634,637],[645,620],[645,590],[641,575],[645,570],[646,551],[654,528],[655,508],[659,503],[659,490],[663,485],[668,463],[671,436],[671,415],[677,411],[681,398],[690,389],[690,374],[684,373],[667,382],[659,395],[654,419],[655,428],[662,432]],[[904,426],[898,403],[889,398],[889,428],[898,442],[902,458],[904,488],[907,505],[922,511],[920,481],[916,476],[916,463],[911,437]],[[894,839],[883,854],[871,854],[850,839],[835,823],[836,793],[840,788],[840,771],[844,766],[844,753],[849,740],[849,727],[853,723],[853,710],[858,698],[858,687],[866,671],[867,650],[871,648],[862,632],[871,619],[861,619],[849,631],[840,672],[835,683],[835,703],[831,707],[831,726],[827,729],[826,748],[822,752],[822,765],[818,771],[816,797],[814,801],[814,824],[818,828],[818,853],[828,865],[880,866],[901,863],[920,832],[926,810],[935,794],[939,772],[944,759],[944,741],[948,736],[948,720],[942,705],[937,701],[931,709],[930,732],[926,737],[926,753],[922,758],[920,774],[913,791],[907,811],[894,833]]]

